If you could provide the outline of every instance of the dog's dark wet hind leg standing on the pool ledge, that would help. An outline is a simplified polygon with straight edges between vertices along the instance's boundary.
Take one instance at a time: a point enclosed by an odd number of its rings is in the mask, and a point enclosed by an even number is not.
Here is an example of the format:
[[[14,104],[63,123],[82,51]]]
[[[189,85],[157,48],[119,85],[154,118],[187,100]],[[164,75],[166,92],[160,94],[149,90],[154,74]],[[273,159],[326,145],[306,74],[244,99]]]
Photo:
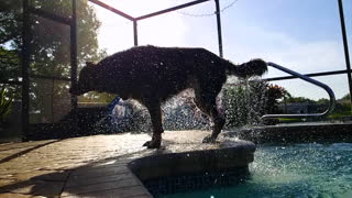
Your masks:
[[[221,132],[226,119],[217,109],[217,96],[221,90],[221,86],[218,88],[212,88],[210,91],[205,89],[195,89],[195,102],[197,107],[208,114],[213,122],[212,133],[204,139],[204,143],[213,143],[216,142],[219,133]]]

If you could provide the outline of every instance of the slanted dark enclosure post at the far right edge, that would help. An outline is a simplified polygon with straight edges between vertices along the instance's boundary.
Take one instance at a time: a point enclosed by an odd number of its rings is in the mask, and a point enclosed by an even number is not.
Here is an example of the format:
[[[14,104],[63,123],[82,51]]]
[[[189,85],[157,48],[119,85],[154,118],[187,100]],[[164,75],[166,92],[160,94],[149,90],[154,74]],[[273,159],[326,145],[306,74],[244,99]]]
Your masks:
[[[343,48],[344,48],[344,59],[345,59],[345,66],[346,66],[346,70],[348,70],[349,88],[350,88],[350,96],[351,96],[351,101],[350,101],[351,102],[351,111],[352,111],[352,77],[351,77],[351,62],[350,62],[350,55],[349,55],[349,44],[348,44],[348,37],[346,37],[346,33],[345,33],[345,23],[344,23],[342,0],[338,0],[338,2],[339,2],[339,13],[340,13]]]

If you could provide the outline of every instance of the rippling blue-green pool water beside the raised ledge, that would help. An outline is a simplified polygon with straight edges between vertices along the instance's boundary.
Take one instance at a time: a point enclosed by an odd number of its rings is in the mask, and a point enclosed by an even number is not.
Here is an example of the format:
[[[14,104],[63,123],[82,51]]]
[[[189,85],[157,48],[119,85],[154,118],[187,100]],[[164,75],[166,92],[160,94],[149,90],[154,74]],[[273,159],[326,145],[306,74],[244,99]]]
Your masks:
[[[352,143],[257,147],[250,175],[232,187],[163,198],[352,197]]]

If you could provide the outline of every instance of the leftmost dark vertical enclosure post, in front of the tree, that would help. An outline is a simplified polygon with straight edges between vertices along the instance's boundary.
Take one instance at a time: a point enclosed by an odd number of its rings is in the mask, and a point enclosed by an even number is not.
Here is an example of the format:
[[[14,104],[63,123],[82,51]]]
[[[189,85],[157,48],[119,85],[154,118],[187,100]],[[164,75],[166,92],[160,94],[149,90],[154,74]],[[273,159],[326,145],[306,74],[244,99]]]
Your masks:
[[[30,40],[31,25],[29,0],[23,0],[22,28],[22,139],[29,136],[30,125]]]

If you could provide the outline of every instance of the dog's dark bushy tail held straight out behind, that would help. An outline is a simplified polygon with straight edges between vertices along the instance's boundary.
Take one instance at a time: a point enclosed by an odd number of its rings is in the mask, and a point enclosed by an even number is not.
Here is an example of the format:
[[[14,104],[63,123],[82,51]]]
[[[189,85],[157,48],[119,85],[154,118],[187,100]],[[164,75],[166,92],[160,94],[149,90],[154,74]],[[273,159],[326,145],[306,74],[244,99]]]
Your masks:
[[[230,75],[242,78],[251,76],[262,76],[267,70],[267,64],[263,59],[256,58],[241,65],[227,64],[227,70]]]

